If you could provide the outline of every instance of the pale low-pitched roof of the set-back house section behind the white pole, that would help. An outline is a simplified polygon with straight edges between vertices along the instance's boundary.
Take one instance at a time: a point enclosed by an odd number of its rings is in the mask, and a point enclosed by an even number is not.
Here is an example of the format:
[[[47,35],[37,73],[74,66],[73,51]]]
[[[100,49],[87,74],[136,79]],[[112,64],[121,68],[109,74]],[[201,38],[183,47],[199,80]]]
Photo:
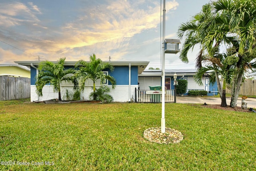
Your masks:
[[[174,73],[177,76],[194,76],[196,72],[195,69],[167,69],[165,76],[173,76]],[[144,70],[139,76],[162,76],[162,70]]]

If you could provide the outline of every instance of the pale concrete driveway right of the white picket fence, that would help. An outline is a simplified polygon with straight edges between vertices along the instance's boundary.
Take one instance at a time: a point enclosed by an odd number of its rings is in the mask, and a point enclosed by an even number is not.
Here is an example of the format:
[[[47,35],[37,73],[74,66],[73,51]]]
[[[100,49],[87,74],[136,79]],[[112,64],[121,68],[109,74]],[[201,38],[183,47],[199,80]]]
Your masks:
[[[231,97],[226,97],[227,105],[230,104]],[[247,103],[247,109],[250,107],[256,108],[256,98],[250,98],[248,97],[245,102]],[[221,99],[220,97],[214,97],[214,96],[207,96],[207,97],[200,97],[200,96],[177,96],[176,97],[176,103],[198,103],[198,104],[211,104],[211,105],[220,105]],[[237,106],[241,107],[242,98],[238,97],[237,99]]]

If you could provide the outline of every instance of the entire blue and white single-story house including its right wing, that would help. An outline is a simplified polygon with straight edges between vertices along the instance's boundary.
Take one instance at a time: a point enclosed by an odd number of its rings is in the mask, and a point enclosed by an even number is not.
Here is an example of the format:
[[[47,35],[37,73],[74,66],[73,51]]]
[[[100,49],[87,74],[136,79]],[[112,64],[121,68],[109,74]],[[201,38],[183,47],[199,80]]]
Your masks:
[[[58,93],[54,93],[51,85],[45,85],[43,88],[43,96],[38,97],[36,93],[36,75],[38,74],[38,61],[18,61],[15,62],[19,65],[28,66],[31,73],[31,85],[30,85],[30,99],[31,101],[45,101],[58,98]],[[76,62],[66,61],[64,66],[66,68],[74,67]],[[162,73],[161,70],[145,70],[149,62],[124,62],[124,61],[111,61],[109,62],[114,66],[114,71],[104,71],[106,74],[113,76],[116,79],[116,88],[111,89],[110,95],[113,96],[116,102],[138,101],[138,102],[160,102],[152,101],[152,93],[149,86],[161,86]],[[165,87],[166,87],[166,102],[173,102],[173,89],[174,89],[174,73],[177,74],[177,79],[188,80],[187,91],[189,90],[206,90],[211,93],[208,95],[217,94],[217,85],[211,85],[209,78],[206,76],[202,79],[204,85],[199,86],[194,82],[194,74],[196,70],[165,70]],[[111,86],[111,83],[106,81],[104,84]],[[96,86],[100,86],[100,81],[96,83]],[[72,84],[62,83],[61,91],[65,89],[73,89]],[[92,92],[92,82],[88,80],[85,84],[84,92],[80,94],[82,100],[88,100],[89,94]],[[186,95],[186,94],[185,94]],[[143,100],[142,100],[143,99]],[[159,99],[157,97],[157,99]]]

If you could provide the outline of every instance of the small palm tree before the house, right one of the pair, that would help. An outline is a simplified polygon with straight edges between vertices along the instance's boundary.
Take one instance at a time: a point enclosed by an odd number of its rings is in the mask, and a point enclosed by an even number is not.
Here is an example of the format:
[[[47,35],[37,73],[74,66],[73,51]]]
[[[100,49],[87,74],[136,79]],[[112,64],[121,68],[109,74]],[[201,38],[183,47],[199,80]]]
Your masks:
[[[98,80],[101,80],[101,83],[104,80],[108,80],[112,84],[112,88],[116,86],[116,80],[110,75],[104,74],[102,70],[114,71],[114,67],[107,62],[102,62],[101,59],[96,59],[96,55],[90,55],[90,62],[87,63],[84,60],[80,60],[75,65],[76,68],[79,68],[76,76],[80,79],[80,89],[84,91],[84,83],[90,79],[93,82],[93,92],[96,91],[95,83]],[[96,98],[96,97],[95,97]],[[95,100],[94,98],[94,100]]]

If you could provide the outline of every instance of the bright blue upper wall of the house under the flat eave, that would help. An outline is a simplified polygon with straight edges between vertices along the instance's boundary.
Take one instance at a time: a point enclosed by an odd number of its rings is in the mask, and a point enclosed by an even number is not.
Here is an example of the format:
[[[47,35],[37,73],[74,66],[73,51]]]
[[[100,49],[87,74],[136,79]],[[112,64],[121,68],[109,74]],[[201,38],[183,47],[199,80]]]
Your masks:
[[[71,68],[71,67],[65,67]],[[115,66],[114,71],[108,71],[108,74],[116,79],[116,85],[129,85],[129,66]],[[31,85],[36,83],[36,69],[30,68]],[[108,82],[111,85],[110,82]],[[131,66],[131,85],[138,85],[138,67]]]

